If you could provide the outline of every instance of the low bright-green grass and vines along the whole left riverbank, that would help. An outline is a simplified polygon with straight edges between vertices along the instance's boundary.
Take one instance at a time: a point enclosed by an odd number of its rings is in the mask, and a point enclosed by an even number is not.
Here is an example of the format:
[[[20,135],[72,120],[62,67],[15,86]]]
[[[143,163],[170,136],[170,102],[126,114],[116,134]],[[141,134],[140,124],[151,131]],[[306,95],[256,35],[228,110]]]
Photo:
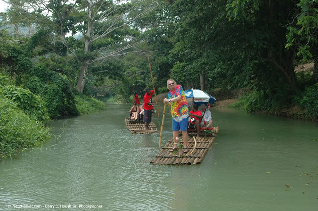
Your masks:
[[[46,99],[43,99],[29,89],[10,84],[7,77],[0,76],[0,159],[15,157],[53,137],[45,126],[50,117],[56,117],[56,111],[49,112]],[[74,102],[76,110],[73,112],[76,114],[105,109],[105,103],[85,95],[76,95]]]

